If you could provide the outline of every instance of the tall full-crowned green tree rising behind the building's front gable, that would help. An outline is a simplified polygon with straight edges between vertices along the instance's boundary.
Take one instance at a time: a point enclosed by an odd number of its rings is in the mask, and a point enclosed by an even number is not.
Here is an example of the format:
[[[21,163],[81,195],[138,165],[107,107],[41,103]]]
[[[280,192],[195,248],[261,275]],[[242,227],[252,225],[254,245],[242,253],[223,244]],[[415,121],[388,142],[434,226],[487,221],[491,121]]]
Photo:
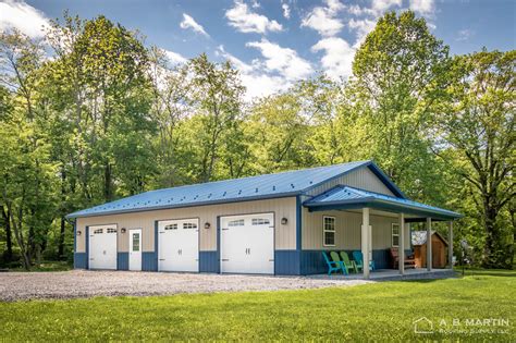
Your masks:
[[[428,131],[447,54],[423,19],[386,13],[356,52],[339,115],[346,159],[372,158],[409,196],[438,204]]]

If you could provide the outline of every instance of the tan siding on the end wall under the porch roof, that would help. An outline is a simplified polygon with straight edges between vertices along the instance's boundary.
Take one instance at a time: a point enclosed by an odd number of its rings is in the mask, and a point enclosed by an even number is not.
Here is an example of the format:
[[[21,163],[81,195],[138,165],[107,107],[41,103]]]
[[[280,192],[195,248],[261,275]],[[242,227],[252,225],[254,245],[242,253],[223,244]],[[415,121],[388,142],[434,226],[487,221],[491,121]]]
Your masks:
[[[335,246],[322,245],[322,217],[335,217]],[[391,224],[397,219],[371,215],[372,248],[385,249],[391,247]],[[360,249],[361,213],[346,211],[309,212],[306,208],[302,213],[303,249]],[[405,231],[405,246],[409,247],[408,230]]]

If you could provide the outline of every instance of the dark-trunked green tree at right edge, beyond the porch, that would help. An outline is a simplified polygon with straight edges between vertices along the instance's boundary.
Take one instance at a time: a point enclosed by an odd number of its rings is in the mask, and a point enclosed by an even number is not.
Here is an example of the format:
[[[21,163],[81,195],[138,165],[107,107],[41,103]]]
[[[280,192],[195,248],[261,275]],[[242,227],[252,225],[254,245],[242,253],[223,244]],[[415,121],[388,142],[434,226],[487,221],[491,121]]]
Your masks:
[[[439,117],[438,146],[458,155],[447,162],[465,180],[484,230],[486,267],[511,268],[514,258],[515,62],[516,50],[457,57]]]

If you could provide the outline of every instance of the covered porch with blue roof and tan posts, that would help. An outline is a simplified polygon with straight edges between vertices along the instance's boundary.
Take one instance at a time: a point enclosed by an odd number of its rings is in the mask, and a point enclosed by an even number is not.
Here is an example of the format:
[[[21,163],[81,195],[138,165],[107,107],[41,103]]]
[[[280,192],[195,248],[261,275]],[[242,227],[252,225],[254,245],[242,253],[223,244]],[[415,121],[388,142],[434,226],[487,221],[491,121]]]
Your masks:
[[[360,226],[360,249],[364,266],[369,266],[372,259],[372,230],[371,213],[384,213],[384,216],[397,217],[400,230],[398,240],[398,262],[397,270],[382,269],[370,270],[364,268],[361,274],[342,275],[342,278],[364,278],[364,279],[407,279],[432,277],[433,273],[441,273],[442,269],[432,268],[432,223],[446,222],[447,224],[447,270],[450,272],[453,267],[453,221],[460,218],[459,213],[413,201],[402,197],[394,197],[354,188],[351,186],[339,185],[323,194],[303,203],[309,212],[341,210],[361,213]],[[410,232],[411,223],[423,223],[427,232],[427,266],[426,268],[407,269],[405,268],[405,254],[410,245],[406,244],[406,232]]]

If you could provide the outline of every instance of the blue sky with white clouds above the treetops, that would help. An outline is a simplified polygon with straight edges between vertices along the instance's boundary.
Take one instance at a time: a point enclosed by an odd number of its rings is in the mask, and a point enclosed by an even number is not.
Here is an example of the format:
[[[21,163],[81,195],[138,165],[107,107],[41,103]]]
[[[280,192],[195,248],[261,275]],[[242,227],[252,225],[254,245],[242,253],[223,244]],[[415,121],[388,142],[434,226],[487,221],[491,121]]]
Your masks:
[[[349,76],[357,47],[389,10],[414,10],[452,53],[516,46],[514,0],[0,0],[0,29],[14,26],[37,37],[65,9],[138,29],[172,62],[201,52],[230,59],[249,98],[317,72]]]

